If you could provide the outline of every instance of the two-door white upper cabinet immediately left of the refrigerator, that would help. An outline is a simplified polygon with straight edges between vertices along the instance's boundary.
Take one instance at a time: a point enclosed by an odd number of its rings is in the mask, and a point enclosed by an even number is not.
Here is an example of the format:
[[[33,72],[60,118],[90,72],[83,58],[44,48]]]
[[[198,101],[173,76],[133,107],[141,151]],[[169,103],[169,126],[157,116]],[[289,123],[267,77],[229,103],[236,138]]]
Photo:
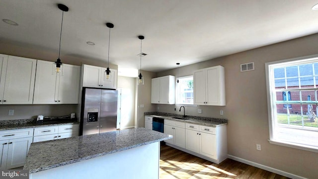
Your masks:
[[[53,71],[54,66],[37,61],[33,104],[77,104],[80,66],[63,64],[60,74]]]

